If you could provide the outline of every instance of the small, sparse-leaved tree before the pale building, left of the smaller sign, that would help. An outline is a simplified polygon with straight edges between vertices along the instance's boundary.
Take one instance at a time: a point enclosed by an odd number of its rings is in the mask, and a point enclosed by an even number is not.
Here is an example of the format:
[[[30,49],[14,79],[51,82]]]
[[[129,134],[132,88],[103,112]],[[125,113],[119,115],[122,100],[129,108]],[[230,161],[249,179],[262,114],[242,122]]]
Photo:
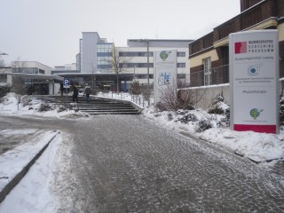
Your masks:
[[[113,57],[111,59],[106,59],[106,62],[110,63],[113,67],[113,71],[116,75],[116,91],[119,92],[119,74],[122,71],[127,71],[127,63],[129,63],[131,58],[121,57],[119,55],[119,49],[114,48]]]

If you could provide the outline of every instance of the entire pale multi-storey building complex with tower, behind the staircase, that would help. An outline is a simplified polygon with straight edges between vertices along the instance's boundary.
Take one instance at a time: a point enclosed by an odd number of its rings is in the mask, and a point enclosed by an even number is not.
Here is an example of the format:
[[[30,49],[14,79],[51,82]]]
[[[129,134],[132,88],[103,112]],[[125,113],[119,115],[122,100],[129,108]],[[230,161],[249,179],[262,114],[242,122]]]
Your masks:
[[[134,79],[142,85],[154,83],[154,51],[177,51],[177,81],[189,84],[188,44],[193,40],[174,39],[129,39],[128,46],[116,47],[107,43],[97,32],[83,32],[80,51],[75,56],[76,70],[60,67],[53,74],[65,75],[74,79],[75,83],[91,83],[102,90],[106,82],[111,84],[111,90],[117,86],[117,76],[114,71],[114,59],[119,56],[119,89],[128,91]],[[61,71],[61,72],[60,72]],[[77,78],[77,80],[75,80]],[[108,85],[109,86],[109,85]]]

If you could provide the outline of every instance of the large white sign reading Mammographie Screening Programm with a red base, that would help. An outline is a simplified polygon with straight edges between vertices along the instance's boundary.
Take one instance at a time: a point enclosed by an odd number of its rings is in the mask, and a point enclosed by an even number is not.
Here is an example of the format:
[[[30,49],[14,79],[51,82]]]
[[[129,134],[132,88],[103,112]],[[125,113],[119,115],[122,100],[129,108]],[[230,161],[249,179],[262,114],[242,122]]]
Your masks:
[[[277,30],[231,34],[231,129],[279,132]]]

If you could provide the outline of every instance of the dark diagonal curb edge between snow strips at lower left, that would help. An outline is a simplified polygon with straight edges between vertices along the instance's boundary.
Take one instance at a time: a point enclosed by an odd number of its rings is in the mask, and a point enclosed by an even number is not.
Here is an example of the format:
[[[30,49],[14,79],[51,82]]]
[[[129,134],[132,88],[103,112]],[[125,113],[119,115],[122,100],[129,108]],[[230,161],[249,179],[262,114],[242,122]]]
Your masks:
[[[43,154],[44,150],[50,145],[51,141],[59,134],[60,132],[57,131],[55,135],[51,138],[51,140],[43,146],[43,148],[36,154],[36,156],[28,162],[28,164],[19,172],[18,175],[12,178],[12,180],[4,186],[4,189],[0,192],[0,203],[4,201],[6,195],[12,191],[12,189],[19,184],[20,180],[25,177],[28,173],[28,170],[34,165],[36,160]]]

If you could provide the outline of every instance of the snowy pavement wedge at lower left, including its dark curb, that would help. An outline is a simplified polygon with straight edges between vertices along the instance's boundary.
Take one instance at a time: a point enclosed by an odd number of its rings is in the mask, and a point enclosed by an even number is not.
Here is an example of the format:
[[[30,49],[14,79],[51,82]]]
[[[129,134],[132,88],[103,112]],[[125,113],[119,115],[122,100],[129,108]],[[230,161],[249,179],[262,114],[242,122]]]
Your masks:
[[[0,131],[0,202],[20,182],[59,131]]]

